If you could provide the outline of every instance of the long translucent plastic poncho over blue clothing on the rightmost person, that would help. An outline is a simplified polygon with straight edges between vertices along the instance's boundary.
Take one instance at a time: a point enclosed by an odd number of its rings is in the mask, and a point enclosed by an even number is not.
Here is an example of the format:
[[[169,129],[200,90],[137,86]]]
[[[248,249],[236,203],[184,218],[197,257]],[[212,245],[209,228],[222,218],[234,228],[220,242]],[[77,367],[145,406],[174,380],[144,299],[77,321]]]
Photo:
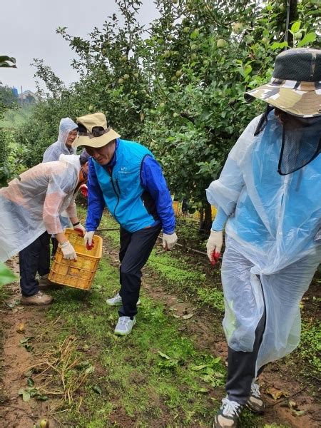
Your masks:
[[[257,370],[297,347],[300,300],[321,261],[321,155],[295,173],[278,174],[282,126],[272,111],[255,137],[259,119],[245,129],[220,178],[206,190],[208,202],[230,216],[223,327],[233,350],[253,350],[265,303]]]

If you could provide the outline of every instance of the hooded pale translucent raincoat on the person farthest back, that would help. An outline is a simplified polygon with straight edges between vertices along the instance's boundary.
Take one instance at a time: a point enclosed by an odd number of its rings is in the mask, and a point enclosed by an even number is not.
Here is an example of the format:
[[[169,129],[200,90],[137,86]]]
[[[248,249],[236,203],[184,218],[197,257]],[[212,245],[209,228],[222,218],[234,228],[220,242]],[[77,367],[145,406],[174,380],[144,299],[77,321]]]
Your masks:
[[[68,138],[68,133],[76,129],[77,124],[72,121],[70,118],[62,118],[59,124],[59,133],[58,140],[56,143],[51,144],[49,148],[44,153],[43,162],[58,161],[58,158],[61,154],[63,155],[73,155],[76,153],[76,150],[71,147],[66,146],[66,141]]]

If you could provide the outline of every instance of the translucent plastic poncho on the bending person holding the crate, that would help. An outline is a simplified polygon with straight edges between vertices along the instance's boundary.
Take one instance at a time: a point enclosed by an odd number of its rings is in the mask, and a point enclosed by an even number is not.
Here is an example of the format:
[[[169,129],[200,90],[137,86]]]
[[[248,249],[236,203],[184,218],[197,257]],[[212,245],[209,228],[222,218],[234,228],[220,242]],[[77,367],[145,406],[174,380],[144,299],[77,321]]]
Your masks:
[[[0,189],[0,261],[33,243],[47,230],[61,233],[59,213],[76,217],[79,156],[61,155],[59,161],[39,163]]]

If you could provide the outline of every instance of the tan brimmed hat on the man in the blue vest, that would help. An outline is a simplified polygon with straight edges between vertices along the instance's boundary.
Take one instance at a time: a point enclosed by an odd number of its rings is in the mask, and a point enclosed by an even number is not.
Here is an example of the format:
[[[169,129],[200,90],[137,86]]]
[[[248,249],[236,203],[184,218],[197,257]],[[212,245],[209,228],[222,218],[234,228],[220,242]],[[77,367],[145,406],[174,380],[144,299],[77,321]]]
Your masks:
[[[108,128],[106,116],[103,113],[87,114],[77,118],[78,138],[73,141],[73,147],[89,146],[100,148],[120,138],[120,135]]]

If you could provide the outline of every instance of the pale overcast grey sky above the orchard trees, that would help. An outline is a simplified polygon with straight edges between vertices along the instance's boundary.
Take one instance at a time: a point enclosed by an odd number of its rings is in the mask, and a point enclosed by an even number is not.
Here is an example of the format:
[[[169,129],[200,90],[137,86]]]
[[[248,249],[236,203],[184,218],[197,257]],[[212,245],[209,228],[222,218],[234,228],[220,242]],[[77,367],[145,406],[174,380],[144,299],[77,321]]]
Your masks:
[[[153,0],[142,0],[139,21],[148,24],[158,16]],[[36,90],[33,58],[44,59],[67,85],[78,80],[70,64],[75,54],[56,34],[66,26],[67,34],[86,39],[96,26],[101,29],[108,15],[118,14],[114,0],[3,0],[0,9],[0,55],[14,56],[17,68],[0,68],[2,85],[19,93]],[[44,88],[44,86],[41,86]]]

